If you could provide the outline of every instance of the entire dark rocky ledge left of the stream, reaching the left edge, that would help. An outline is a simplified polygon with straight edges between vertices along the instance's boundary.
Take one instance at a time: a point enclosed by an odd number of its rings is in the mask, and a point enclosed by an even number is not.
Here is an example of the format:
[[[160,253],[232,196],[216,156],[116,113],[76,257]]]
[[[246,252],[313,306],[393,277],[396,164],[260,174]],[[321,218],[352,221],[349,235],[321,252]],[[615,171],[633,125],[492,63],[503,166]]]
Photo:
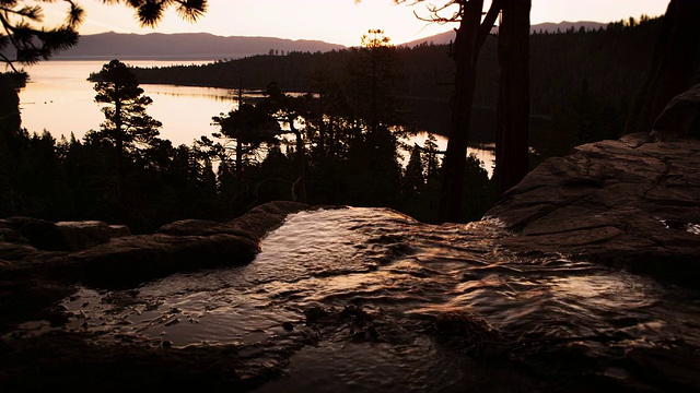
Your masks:
[[[152,235],[100,222],[0,219],[0,331],[28,318],[50,320],[47,308],[79,283],[135,287],[176,272],[247,263],[269,230],[307,207],[271,202],[230,222],[187,219]]]

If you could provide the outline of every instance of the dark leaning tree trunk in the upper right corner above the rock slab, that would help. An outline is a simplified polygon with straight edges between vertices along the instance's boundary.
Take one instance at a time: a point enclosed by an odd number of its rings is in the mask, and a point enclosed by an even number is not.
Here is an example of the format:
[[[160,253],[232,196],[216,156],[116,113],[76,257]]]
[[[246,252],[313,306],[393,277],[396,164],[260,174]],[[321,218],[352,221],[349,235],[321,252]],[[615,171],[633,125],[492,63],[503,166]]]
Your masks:
[[[699,46],[700,1],[670,0],[650,73],[634,100],[626,133],[650,132],[666,105],[690,87]]]

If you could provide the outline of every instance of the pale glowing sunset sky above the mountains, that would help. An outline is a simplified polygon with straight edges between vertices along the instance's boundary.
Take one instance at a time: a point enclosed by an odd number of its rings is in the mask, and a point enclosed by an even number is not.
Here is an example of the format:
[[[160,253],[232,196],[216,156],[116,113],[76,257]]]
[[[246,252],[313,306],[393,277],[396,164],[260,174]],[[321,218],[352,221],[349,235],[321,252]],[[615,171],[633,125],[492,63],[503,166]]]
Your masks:
[[[31,2],[31,1],[27,1]],[[140,27],[133,11],[125,5],[105,5],[100,0],[78,0],[86,11],[81,34],[103,32],[194,33],[221,36],[268,36],[290,39],[319,39],[357,46],[370,28],[381,28],[401,44],[454,28],[454,25],[420,21],[415,12],[428,16],[425,4],[445,3],[428,0],[417,5],[394,4],[393,0],[210,0],[207,14],[190,24],[174,11],[153,29]],[[411,3],[409,0],[407,3]],[[487,7],[490,1],[487,0]],[[533,0],[532,24],[561,21],[611,22],[629,16],[661,15],[668,0]],[[45,4],[46,22],[65,17],[61,1]]]

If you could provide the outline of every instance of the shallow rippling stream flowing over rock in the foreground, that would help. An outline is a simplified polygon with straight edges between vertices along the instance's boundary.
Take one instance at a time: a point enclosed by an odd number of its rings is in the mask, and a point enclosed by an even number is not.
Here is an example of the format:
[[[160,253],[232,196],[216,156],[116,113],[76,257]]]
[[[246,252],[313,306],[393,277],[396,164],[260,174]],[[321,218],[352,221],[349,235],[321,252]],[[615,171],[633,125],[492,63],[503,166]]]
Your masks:
[[[74,314],[65,329],[234,345],[247,372],[281,370],[265,392],[568,391],[581,381],[635,390],[653,382],[650,370],[673,380],[666,369],[687,367],[677,350],[698,353],[696,293],[561,255],[516,255],[493,245],[501,236],[497,222],[302,212],[245,266],[81,288],[63,302]]]

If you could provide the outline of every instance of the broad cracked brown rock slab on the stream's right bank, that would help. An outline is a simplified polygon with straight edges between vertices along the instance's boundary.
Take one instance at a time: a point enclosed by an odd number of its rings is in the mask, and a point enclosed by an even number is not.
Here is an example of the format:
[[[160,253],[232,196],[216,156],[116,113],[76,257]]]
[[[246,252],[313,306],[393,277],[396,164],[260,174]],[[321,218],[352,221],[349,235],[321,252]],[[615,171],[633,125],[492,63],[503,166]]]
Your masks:
[[[506,248],[560,252],[700,287],[700,140],[630,134],[578,146],[509,190],[487,217]]]

